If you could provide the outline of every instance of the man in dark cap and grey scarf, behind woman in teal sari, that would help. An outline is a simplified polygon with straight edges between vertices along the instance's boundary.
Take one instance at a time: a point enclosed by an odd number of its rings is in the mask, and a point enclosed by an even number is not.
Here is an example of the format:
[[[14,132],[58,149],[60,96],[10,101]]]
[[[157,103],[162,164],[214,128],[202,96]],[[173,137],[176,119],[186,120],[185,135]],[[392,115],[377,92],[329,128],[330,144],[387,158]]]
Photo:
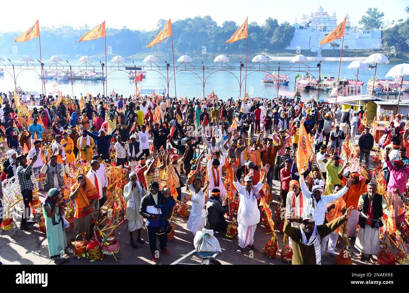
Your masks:
[[[52,155],[50,157],[50,162],[48,162],[48,157],[46,157],[45,160],[45,164],[40,170],[41,174],[45,174],[44,191],[48,192],[52,188],[61,188],[61,186],[64,184],[64,173],[67,175],[70,174],[70,170],[68,170],[67,158],[64,158],[63,164],[57,162],[56,155]]]

